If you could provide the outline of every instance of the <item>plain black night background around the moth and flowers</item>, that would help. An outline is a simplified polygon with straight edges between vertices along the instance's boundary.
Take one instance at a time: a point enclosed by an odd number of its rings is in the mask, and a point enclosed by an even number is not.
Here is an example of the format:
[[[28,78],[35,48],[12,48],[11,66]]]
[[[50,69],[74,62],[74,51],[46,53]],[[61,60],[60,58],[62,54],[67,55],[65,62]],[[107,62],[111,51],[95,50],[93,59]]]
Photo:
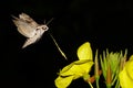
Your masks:
[[[48,32],[42,38],[21,50],[25,37],[12,22],[11,14],[29,14],[38,23],[49,24],[58,44],[68,56],[65,61]],[[93,52],[133,53],[133,3],[130,0],[1,0],[0,1],[0,86],[17,88],[55,88],[57,73],[76,58],[76,48],[90,42]],[[82,79],[70,88],[89,87]]]

